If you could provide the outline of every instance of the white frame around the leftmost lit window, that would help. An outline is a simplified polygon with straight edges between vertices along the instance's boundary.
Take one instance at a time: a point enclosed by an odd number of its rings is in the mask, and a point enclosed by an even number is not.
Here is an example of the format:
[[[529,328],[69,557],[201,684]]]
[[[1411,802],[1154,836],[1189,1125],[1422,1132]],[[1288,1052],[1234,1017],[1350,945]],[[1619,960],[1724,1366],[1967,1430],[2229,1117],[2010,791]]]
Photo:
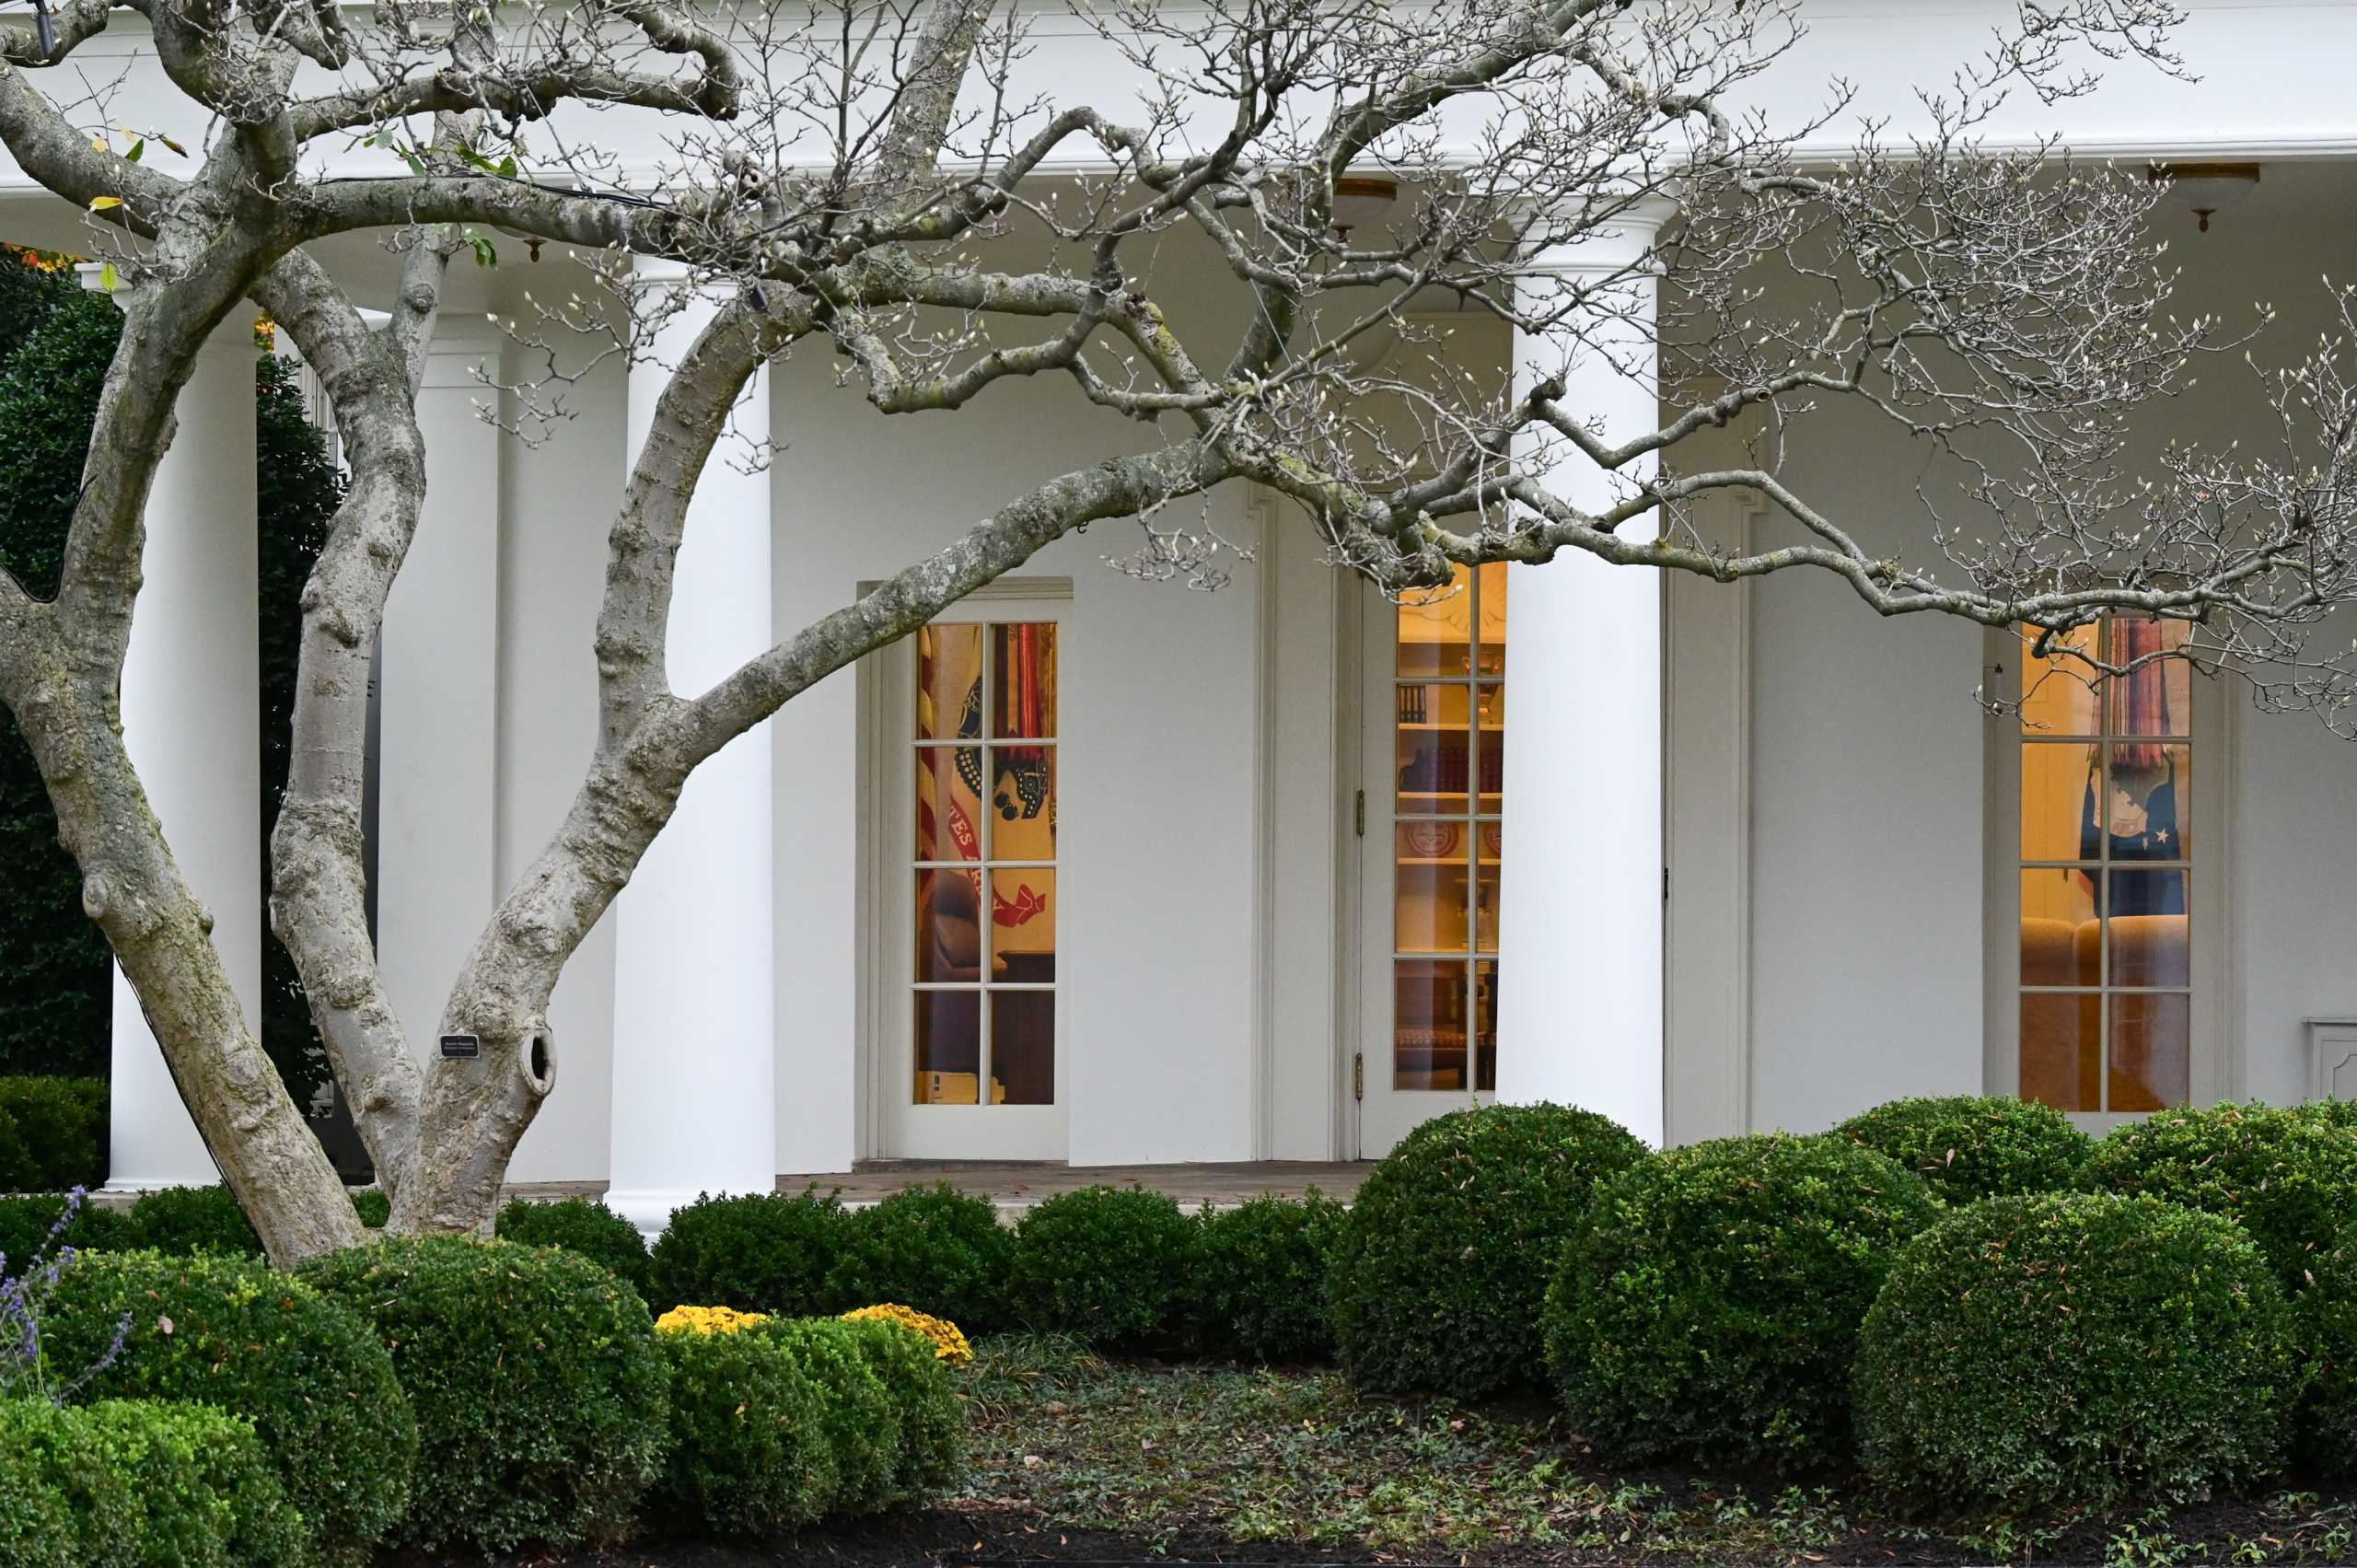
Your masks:
[[[860,592],[874,585],[860,585]],[[999,578],[966,594],[936,615],[936,625],[1054,620],[1072,622],[1070,578]],[[858,835],[863,889],[860,920],[860,1075],[865,1078],[863,1153],[874,1158],[922,1160],[1063,1160],[1070,1132],[1072,976],[1056,969],[1056,1103],[1051,1106],[917,1106],[915,1082],[915,990],[912,927],[915,877],[912,806],[915,802],[915,660],[917,639],[900,641],[860,660],[858,674]],[[1070,644],[1058,658],[1070,655]],[[1072,738],[1058,719],[1056,795],[1075,780]],[[1082,759],[1084,766],[1084,759]],[[1063,870],[1058,861],[1058,870]],[[1068,877],[1056,879],[1056,946],[1068,948],[1072,901]]]

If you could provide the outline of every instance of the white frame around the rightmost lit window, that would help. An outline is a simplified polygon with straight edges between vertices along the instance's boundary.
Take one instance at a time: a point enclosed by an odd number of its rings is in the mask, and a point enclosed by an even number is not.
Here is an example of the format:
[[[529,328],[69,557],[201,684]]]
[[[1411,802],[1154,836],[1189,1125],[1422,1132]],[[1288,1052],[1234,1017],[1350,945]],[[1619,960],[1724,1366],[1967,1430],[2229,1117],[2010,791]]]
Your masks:
[[[2022,639],[2013,630],[1992,630],[1982,639],[1982,684],[2003,703],[2022,696]],[[2237,960],[2234,920],[2234,773],[2239,752],[2237,705],[2223,679],[2192,679],[2192,757],[2194,757],[2194,865],[2187,915],[2192,917],[2192,1040],[2187,1042],[2187,1092],[2194,1106],[2216,1106],[2242,1092],[2244,1047],[2234,1019]],[[2022,1014],[2020,1014],[2020,813],[2022,813],[2022,726],[2015,712],[1992,712],[1985,719],[1985,898],[1982,898],[1982,1092],[2013,1096],[2020,1092]],[[2107,1042],[2105,1047],[2107,1049]],[[2143,1113],[2088,1111],[2072,1120],[2093,1134]]]

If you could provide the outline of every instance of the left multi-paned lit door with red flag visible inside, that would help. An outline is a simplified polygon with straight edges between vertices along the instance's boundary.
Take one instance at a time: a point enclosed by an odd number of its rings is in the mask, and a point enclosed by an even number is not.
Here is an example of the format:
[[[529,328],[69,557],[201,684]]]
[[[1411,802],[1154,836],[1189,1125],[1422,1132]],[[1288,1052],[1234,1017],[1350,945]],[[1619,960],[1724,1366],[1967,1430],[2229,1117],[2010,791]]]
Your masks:
[[[1056,604],[971,604],[882,667],[886,1153],[1065,1155]]]

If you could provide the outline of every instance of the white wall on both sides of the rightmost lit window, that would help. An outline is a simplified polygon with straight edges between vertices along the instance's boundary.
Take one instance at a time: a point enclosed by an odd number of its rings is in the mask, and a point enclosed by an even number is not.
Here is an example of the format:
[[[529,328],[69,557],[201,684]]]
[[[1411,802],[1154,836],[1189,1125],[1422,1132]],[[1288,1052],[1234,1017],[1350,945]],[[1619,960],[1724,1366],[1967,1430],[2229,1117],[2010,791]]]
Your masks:
[[[2284,163],[2211,233],[2178,219],[2178,314],[2251,321],[2253,302],[2275,302],[2282,321],[2256,351],[2296,358],[2324,325],[2317,274],[2357,262],[2350,193],[2357,167]],[[2265,441],[2239,354],[2152,410],[2143,436],[2145,455],[2166,439]],[[1921,540],[1921,455],[1904,441],[1827,413],[1803,422],[1794,453],[1803,495],[1836,498],[1869,540]],[[1763,535],[1780,538],[1772,519]],[[1751,672],[1754,1125],[1817,1129],[1897,1094],[1978,1092],[1980,634],[1883,622],[1846,587],[1784,573],[1756,587]],[[2232,684],[2204,698],[2239,710],[2230,1033],[2246,1054],[2244,1089],[2296,1099],[2300,1019],[2357,1007],[2345,962],[2357,938],[2357,835],[2345,832],[2357,745],[2308,717],[2251,712]]]

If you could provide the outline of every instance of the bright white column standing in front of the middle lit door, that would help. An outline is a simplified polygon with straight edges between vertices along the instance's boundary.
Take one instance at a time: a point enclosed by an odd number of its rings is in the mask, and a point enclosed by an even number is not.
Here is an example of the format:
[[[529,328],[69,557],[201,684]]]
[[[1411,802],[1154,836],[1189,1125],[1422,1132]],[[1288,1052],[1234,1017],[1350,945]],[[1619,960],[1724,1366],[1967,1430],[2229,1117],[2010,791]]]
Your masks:
[[[1556,276],[1629,266],[1666,210],[1617,219],[1539,257]],[[1534,283],[1537,290],[1544,281]],[[1551,292],[1551,290],[1546,290]],[[1598,323],[1615,358],[1516,335],[1516,394],[1565,375],[1565,408],[1624,441],[1659,420],[1655,281],[1626,285],[1629,321]],[[1565,363],[1570,361],[1570,363]],[[1539,450],[1530,441],[1525,453]],[[1567,441],[1549,486],[1610,505],[1615,481]],[[1652,474],[1643,460],[1626,479]],[[1640,533],[1631,533],[1638,531]],[[1652,538],[1652,521],[1624,526]],[[1662,580],[1563,552],[1516,566],[1506,615],[1506,856],[1499,884],[1497,1092],[1610,1115],[1662,1141]]]

